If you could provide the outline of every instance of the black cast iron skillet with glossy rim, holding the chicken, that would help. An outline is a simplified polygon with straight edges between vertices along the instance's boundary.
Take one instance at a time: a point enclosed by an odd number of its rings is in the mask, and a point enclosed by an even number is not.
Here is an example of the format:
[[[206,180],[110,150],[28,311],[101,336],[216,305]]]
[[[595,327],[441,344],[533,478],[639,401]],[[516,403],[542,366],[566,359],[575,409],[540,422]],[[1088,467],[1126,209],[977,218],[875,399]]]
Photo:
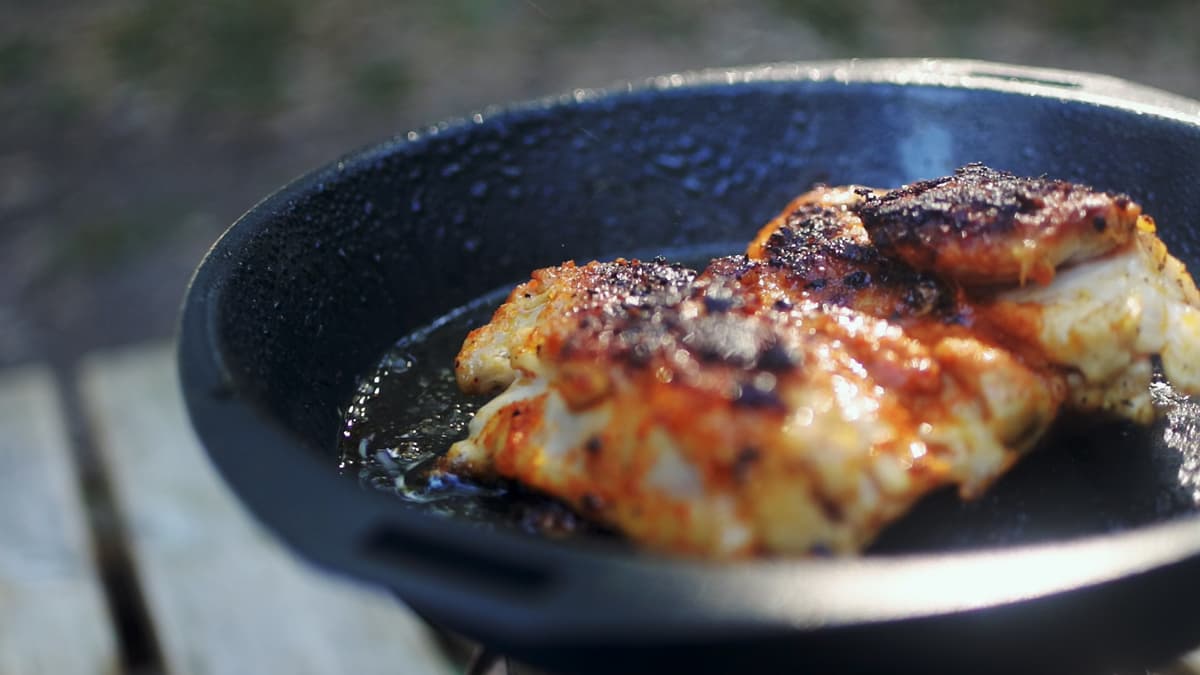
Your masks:
[[[335,470],[355,377],[451,307],[566,258],[749,240],[815,181],[894,186],[968,161],[1127,191],[1200,269],[1195,102],[971,61],[685,73],[488,109],[268,197],[192,281],[187,406],[226,479],[301,555],[548,669],[1160,662],[1200,643],[1200,518],[1175,480],[1194,443],[1151,435],[1112,459],[1067,432],[1040,470],[1031,458],[970,507],[935,497],[874,555],[736,565],[480,528]]]

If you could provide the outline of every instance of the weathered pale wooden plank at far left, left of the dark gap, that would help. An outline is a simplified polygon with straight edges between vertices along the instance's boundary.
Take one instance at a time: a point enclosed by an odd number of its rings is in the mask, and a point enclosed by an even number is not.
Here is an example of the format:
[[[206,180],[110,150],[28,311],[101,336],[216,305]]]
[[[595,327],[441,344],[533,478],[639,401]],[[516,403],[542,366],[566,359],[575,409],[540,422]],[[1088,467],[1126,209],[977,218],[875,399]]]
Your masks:
[[[119,668],[66,428],[49,370],[0,374],[0,675]]]

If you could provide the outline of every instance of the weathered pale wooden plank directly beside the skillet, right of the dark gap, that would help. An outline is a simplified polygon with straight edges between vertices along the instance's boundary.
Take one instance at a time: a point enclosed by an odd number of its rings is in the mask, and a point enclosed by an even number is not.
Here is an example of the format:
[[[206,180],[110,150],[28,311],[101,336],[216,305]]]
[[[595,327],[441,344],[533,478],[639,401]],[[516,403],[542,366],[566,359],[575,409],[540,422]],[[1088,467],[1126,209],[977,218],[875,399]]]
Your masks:
[[[451,671],[402,605],[250,519],[185,418],[169,348],[90,358],[80,388],[169,674]]]

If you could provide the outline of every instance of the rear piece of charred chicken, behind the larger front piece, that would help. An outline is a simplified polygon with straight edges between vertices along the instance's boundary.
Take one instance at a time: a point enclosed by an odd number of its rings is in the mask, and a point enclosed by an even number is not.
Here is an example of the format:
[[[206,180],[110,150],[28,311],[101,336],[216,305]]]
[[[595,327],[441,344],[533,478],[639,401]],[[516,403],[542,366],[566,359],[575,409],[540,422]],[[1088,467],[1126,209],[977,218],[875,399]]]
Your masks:
[[[967,225],[943,227],[953,222]],[[876,245],[913,232],[929,251]],[[1004,258],[1014,250],[1024,257]],[[970,252],[974,267],[959,269],[943,251],[964,264]],[[748,255],[780,270],[788,298],[888,317],[926,341],[971,338],[1060,372],[1078,411],[1148,423],[1154,356],[1170,381],[1200,386],[1195,283],[1122,195],[978,165],[892,192],[818,187],[763,227]],[[1049,259],[1061,277],[1043,268],[1026,285],[1022,265]]]

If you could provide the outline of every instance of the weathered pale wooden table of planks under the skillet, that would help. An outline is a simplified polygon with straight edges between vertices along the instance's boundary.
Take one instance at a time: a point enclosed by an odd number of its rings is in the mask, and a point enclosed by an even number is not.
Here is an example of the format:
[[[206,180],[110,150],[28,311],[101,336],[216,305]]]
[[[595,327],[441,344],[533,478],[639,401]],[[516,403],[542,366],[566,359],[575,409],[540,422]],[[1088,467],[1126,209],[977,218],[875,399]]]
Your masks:
[[[0,371],[0,675],[460,671],[295,558],[215,474],[169,345]],[[1159,673],[1200,675],[1200,651]]]

